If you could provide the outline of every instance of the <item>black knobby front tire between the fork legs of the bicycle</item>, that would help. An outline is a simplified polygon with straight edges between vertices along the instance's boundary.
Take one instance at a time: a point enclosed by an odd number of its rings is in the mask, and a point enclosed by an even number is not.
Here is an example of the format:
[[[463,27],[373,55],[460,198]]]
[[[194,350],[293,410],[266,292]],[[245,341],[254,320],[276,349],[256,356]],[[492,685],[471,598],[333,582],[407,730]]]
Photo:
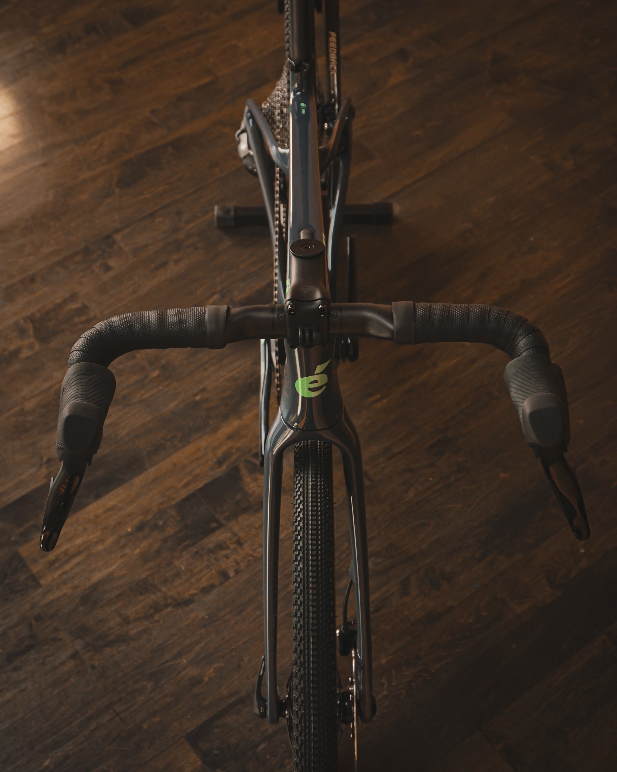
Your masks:
[[[295,445],[293,669],[295,772],[336,772],[338,750],[332,445]]]

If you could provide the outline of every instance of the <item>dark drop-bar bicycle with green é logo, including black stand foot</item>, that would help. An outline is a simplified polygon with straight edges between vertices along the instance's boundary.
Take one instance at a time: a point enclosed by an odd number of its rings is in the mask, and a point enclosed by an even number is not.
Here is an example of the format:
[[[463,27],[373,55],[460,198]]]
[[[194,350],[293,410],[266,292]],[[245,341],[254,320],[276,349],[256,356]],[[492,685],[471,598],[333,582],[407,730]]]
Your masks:
[[[315,5],[321,8],[321,2]],[[285,719],[295,770],[335,770],[343,726],[352,727],[357,767],[358,723],[376,715],[362,453],[337,378],[339,362],[358,357],[359,338],[401,345],[483,342],[509,354],[504,378],[524,437],[575,537],[587,539],[589,526],[575,473],[564,455],[569,442],[565,382],[537,327],[494,306],[359,303],[349,239],[346,286],[342,282],[344,219],[383,222],[391,212],[387,205],[346,208],[354,110],[340,96],[338,2],[325,0],[323,8],[325,93],[315,66],[312,0],[287,0],[284,11],[287,59],[282,77],[263,109],[248,100],[236,137],[244,165],[259,179],[265,207],[219,207],[216,212],[221,226],[267,222],[274,253],[273,303],[121,314],[79,338],[62,382],[56,437],[62,464],[50,484],[40,546],[47,551],[56,546],[86,467],[99,449],[116,388],[109,370],[116,357],[145,348],[215,349],[260,340],[265,655],[258,668],[255,713],[270,723]],[[346,301],[337,302],[343,289]],[[279,408],[270,425],[273,380]],[[283,452],[292,445],[294,651],[282,699],[277,679],[278,535]],[[342,454],[352,543],[338,629],[332,445]],[[352,590],[356,621],[349,621]],[[336,667],[337,641],[339,653],[352,662],[352,677],[345,685]]]

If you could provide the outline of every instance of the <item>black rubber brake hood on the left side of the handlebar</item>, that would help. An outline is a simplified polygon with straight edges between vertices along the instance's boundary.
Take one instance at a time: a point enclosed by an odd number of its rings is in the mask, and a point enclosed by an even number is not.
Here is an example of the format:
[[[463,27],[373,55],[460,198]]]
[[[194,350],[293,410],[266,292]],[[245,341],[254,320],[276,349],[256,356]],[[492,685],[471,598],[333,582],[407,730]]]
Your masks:
[[[103,438],[103,423],[116,391],[113,372],[100,364],[78,362],[66,371],[60,390],[56,453],[60,461],[84,466]]]

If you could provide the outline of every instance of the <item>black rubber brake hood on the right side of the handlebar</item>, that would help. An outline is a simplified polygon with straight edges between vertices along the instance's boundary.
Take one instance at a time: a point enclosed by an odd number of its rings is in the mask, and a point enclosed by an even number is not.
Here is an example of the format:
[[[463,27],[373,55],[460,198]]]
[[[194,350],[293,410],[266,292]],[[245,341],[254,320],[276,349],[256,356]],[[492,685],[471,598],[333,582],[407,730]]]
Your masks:
[[[570,416],[561,367],[542,354],[523,354],[507,364],[504,381],[527,442],[568,449]]]

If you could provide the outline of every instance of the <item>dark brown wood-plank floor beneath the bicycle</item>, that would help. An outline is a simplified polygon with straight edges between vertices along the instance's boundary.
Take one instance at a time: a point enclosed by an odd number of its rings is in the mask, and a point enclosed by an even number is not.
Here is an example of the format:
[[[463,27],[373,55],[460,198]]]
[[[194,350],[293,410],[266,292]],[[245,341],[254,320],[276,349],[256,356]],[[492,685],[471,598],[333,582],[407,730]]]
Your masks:
[[[571,398],[577,542],[481,345],[362,341],[379,713],[362,772],[617,768],[617,4],[342,0],[359,299],[494,303]],[[2,772],[290,770],[261,659],[258,344],[129,354],[51,554],[72,343],[114,313],[268,302],[234,130],[282,68],[274,0],[0,0]],[[290,659],[289,465],[281,688]],[[335,465],[339,589],[349,567]]]

